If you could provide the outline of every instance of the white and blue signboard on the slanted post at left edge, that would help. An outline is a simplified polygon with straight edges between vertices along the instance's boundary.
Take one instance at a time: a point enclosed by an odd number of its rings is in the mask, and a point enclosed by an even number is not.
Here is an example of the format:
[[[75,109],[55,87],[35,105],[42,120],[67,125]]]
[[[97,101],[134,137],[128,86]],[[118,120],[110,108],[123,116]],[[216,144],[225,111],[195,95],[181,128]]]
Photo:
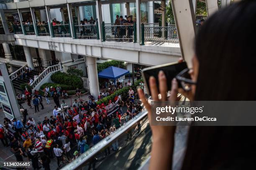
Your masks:
[[[13,117],[14,114],[6,92],[5,83],[2,80],[0,80],[0,102],[2,103],[3,111]]]

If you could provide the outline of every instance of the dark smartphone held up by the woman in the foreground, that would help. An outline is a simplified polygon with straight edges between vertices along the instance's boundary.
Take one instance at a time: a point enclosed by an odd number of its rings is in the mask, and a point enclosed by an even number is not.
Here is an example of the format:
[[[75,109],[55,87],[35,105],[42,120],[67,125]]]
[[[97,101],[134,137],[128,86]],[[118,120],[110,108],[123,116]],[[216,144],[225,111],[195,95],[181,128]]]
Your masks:
[[[156,78],[156,85],[159,89],[159,81],[158,81],[158,73],[159,71],[163,71],[166,79],[167,79],[167,91],[172,89],[172,79],[176,77],[179,72],[187,68],[187,63],[185,61],[183,62],[172,62],[169,64],[164,65],[157,65],[153,67],[148,67],[142,70],[142,76],[143,80],[145,82],[145,85],[147,87],[148,94],[151,95],[150,87],[149,87],[149,77],[154,76]],[[181,84],[179,83],[179,87],[181,87]]]

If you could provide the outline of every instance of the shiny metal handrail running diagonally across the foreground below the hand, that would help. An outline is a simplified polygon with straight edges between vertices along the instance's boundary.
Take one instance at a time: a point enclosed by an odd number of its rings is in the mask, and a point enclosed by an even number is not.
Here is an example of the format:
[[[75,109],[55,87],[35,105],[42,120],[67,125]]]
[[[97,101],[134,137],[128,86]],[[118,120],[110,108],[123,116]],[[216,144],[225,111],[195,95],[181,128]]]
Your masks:
[[[137,122],[143,120],[143,118],[146,118],[147,113],[148,111],[144,110],[135,117],[133,117],[132,120],[126,122],[123,126],[118,128],[118,130],[115,130],[115,132],[111,133],[106,138],[102,139],[99,143],[94,145],[92,148],[87,150],[85,153],[82,153],[71,163],[67,164],[65,167],[62,168],[62,170],[81,170],[85,166],[87,166],[88,163],[92,163],[97,154],[104,152],[105,149],[107,149],[112,143],[115,143],[115,141],[120,138],[120,135],[123,135],[124,133],[134,128],[134,126],[137,125]]]

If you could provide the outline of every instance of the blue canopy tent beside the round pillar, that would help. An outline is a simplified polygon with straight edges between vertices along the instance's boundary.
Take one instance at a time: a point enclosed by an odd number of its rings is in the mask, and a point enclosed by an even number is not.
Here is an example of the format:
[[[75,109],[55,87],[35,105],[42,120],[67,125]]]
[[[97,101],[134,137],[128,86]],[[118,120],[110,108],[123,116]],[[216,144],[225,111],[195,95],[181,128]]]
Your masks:
[[[129,70],[110,66],[108,68],[105,68],[101,72],[99,72],[98,76],[102,78],[113,79],[115,83],[115,80],[117,80],[119,77],[122,77],[123,75],[129,74],[129,73],[130,73]],[[130,79],[130,74],[129,74],[129,79]]]

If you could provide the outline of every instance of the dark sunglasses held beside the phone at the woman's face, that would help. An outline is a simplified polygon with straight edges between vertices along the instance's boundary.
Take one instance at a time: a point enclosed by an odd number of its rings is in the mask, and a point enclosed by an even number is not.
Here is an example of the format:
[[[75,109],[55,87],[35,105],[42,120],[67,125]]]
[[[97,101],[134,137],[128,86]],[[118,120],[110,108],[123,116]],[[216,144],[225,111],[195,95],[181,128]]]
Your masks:
[[[191,85],[197,84],[197,82],[191,80],[188,68],[185,68],[184,70],[179,72],[179,74],[175,78],[181,84],[183,90],[185,90],[185,91],[190,91]]]

